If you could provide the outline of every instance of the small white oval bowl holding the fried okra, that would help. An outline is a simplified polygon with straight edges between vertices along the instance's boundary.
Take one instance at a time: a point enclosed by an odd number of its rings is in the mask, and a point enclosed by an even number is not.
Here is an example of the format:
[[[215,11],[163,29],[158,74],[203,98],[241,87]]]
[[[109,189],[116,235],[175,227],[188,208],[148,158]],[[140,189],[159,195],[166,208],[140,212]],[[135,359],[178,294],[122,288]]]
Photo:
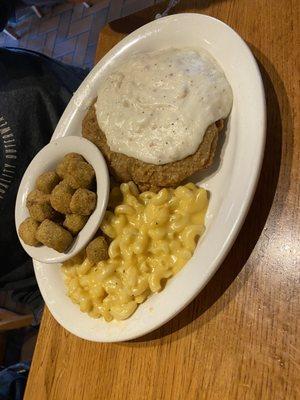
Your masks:
[[[35,188],[35,182],[43,172],[55,169],[56,165],[67,153],[79,153],[95,170],[97,182],[97,205],[84,228],[74,238],[72,246],[65,253],[46,246],[28,246],[19,236],[24,250],[35,260],[52,264],[68,260],[80,252],[96,233],[104,216],[108,195],[109,175],[106,162],[99,149],[87,139],[78,136],[68,136],[51,141],[31,161],[22,178],[15,208],[15,223],[18,231],[21,222],[29,217],[26,207],[28,194]],[[19,235],[19,233],[18,233]]]

